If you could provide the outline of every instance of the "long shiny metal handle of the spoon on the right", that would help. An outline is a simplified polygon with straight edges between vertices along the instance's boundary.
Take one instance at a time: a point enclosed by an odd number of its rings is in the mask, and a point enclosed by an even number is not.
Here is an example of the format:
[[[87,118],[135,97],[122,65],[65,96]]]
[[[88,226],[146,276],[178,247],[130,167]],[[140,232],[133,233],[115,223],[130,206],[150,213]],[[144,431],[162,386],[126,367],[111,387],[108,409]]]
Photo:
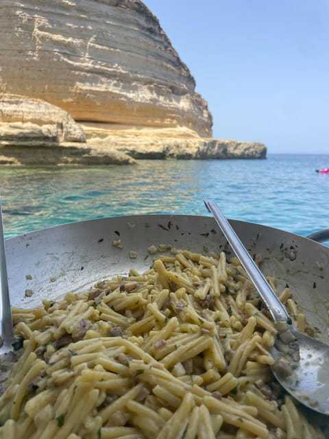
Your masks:
[[[219,228],[221,228],[221,231],[228,240],[228,243],[234,250],[236,256],[239,258],[241,265],[249,275],[252,283],[254,283],[254,286],[260,294],[260,297],[263,298],[265,305],[267,305],[273,320],[275,322],[281,322],[282,320],[284,322],[290,321],[290,316],[287,313],[287,310],[280,302],[278,296],[276,296],[276,293],[273,292],[273,289],[271,289],[269,286],[269,283],[263,276],[263,273],[259,270],[254,259],[252,259],[249,252],[245,246],[243,246],[239,237],[234,232],[232,226],[219,209],[217,202],[215,202],[215,200],[207,199],[204,200],[204,204],[206,204],[208,211],[212,212],[212,215],[214,215]]]

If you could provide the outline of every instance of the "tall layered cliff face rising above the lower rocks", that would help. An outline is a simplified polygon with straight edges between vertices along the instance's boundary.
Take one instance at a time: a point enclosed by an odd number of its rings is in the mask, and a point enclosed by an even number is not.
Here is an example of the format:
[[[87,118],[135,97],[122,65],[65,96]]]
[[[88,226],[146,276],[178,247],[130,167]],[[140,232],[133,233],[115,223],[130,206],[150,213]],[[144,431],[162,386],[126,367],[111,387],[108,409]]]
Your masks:
[[[0,93],[43,99],[76,121],[211,137],[191,73],[139,0],[3,0],[0,66]]]

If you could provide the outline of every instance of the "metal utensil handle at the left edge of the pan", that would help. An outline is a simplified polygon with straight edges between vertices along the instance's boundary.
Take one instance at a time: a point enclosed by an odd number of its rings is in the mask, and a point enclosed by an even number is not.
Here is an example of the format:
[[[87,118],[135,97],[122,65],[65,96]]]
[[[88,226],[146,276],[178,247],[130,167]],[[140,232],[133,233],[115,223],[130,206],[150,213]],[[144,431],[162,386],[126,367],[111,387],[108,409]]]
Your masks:
[[[5,263],[5,238],[3,236],[2,209],[0,199],[0,336],[3,344],[9,345],[13,338],[12,311],[10,309],[10,298],[8,288],[7,265]]]

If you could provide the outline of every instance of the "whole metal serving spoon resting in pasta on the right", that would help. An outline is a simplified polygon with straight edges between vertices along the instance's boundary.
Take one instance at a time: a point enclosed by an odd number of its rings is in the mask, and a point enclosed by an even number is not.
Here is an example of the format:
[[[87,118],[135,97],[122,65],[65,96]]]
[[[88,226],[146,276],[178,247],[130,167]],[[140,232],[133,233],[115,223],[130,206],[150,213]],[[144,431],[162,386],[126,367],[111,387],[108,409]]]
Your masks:
[[[287,310],[260,272],[215,200],[204,200],[219,228],[254,283],[278,329],[278,342],[271,353],[272,372],[282,387],[319,414],[329,414],[329,346],[297,331]]]

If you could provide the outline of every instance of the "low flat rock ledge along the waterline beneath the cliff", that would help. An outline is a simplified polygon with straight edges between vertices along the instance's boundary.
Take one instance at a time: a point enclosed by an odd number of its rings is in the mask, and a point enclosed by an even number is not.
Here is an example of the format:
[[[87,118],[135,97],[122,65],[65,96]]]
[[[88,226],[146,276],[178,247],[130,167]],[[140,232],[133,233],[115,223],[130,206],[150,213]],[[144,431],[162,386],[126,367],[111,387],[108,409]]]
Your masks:
[[[1,128],[0,128],[1,131]],[[266,158],[261,143],[217,139],[149,139],[138,145],[125,137],[90,139],[86,143],[0,147],[0,165],[132,165],[142,159]]]

